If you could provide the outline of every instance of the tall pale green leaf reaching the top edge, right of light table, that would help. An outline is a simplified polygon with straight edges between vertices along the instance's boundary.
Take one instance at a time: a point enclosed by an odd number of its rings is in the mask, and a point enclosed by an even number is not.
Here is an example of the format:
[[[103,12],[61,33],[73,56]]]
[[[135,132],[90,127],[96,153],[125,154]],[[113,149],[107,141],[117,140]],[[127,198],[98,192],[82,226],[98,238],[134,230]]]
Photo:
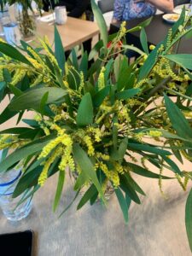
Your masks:
[[[97,4],[95,3],[95,0],[91,0],[91,7],[94,14],[94,17],[96,18],[96,23],[99,26],[100,32],[101,32],[101,38],[103,41],[104,49],[107,50],[108,45],[108,26],[106,25],[106,22],[103,18],[102,11],[99,9]]]

